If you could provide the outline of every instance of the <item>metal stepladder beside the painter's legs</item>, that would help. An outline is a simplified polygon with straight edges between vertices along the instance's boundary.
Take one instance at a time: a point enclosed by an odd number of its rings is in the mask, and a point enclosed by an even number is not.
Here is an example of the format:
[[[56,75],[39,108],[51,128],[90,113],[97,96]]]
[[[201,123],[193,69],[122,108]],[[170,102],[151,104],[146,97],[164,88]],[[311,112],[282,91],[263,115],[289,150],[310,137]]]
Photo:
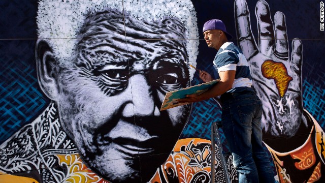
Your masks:
[[[222,150],[221,140],[220,140],[220,134],[218,129],[221,128],[221,121],[213,122],[211,125],[211,183],[215,183],[215,151],[216,147],[215,144],[217,144],[217,153],[220,155],[220,162],[222,165],[224,178],[226,183],[230,183],[230,177],[228,173],[227,163],[225,161],[225,156],[230,156],[230,153],[224,153]],[[215,141],[217,139],[217,141]]]

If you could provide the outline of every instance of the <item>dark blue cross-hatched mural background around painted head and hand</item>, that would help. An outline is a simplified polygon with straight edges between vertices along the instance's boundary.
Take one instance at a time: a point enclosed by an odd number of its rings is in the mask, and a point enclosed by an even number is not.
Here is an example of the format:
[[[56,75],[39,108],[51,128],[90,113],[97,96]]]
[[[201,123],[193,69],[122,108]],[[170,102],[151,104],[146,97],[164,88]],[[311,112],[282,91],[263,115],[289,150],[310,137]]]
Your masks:
[[[233,1],[193,0],[197,11],[200,39],[205,21],[222,19],[228,32],[236,37]],[[247,1],[252,32],[257,38],[254,9],[257,1]],[[303,102],[325,129],[325,31],[319,31],[320,1],[267,1],[271,17],[277,11],[285,14],[289,49],[291,40],[300,38],[303,43]],[[0,143],[22,126],[34,120],[49,104],[41,92],[36,75],[36,11],[37,1],[0,1]],[[237,44],[237,40],[233,40]],[[200,41],[197,68],[213,73],[212,60],[216,51]],[[198,73],[192,85],[201,83]],[[192,112],[181,138],[211,139],[210,126],[219,120],[221,111],[212,100],[193,104]],[[222,136],[222,140],[224,136]]]

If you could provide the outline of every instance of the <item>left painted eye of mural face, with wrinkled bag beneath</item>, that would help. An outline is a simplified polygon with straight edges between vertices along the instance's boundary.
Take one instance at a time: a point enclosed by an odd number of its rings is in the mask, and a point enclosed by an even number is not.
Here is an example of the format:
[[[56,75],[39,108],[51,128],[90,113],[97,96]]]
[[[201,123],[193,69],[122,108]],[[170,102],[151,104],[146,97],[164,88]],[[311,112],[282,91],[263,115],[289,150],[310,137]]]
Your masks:
[[[96,70],[98,85],[108,96],[116,95],[127,87],[129,72],[127,69]]]

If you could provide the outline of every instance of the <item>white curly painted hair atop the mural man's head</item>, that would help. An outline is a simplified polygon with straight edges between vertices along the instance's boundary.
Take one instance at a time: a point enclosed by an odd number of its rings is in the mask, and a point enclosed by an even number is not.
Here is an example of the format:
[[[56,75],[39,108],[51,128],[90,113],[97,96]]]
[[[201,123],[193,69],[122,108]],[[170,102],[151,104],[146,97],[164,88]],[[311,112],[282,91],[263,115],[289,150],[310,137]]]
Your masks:
[[[196,11],[190,0],[123,0],[124,10],[139,20],[161,21],[178,18],[186,27],[186,50],[189,64],[196,66],[199,31]],[[117,0],[40,0],[38,4],[38,39],[48,39],[62,66],[71,66],[75,56],[77,34],[88,13],[117,9]],[[189,69],[190,79],[195,70]]]

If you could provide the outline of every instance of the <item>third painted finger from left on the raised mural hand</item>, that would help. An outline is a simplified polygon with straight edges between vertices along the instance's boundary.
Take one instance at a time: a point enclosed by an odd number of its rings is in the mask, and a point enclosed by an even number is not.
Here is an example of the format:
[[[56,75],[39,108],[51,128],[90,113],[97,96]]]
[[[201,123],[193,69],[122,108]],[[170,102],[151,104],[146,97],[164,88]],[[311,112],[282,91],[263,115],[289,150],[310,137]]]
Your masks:
[[[287,60],[289,56],[288,36],[286,34],[285,16],[282,12],[274,15],[275,49],[274,55]]]

